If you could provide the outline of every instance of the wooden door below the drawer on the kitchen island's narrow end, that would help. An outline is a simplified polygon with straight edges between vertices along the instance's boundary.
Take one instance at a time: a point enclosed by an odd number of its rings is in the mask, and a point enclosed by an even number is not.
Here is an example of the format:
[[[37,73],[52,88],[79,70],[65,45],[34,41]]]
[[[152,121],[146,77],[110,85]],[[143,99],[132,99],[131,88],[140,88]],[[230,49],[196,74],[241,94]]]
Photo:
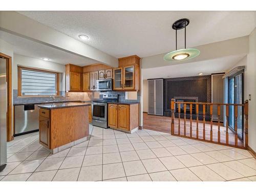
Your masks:
[[[51,127],[50,119],[46,117],[39,116],[39,142],[46,147],[50,147],[50,136]]]

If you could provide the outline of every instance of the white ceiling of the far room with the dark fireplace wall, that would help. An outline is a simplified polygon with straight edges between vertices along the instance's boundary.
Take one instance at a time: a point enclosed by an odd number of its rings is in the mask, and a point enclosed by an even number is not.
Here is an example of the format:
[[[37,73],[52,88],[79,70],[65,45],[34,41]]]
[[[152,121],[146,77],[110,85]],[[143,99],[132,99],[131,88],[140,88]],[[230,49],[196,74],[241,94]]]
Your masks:
[[[203,73],[203,75],[222,73],[231,69],[244,56],[245,55],[228,56],[174,66],[142,69],[142,76],[143,79],[152,79],[197,76],[199,73]]]

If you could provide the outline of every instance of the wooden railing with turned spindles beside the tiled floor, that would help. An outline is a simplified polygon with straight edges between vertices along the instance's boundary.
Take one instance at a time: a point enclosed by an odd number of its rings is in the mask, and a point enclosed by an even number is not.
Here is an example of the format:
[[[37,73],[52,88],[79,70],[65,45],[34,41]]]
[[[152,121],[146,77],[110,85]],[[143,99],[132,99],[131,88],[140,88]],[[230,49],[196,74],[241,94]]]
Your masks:
[[[178,108],[178,126],[175,125],[175,105]],[[184,110],[184,121],[182,125],[181,121],[181,104],[183,104]],[[193,105],[196,106],[196,120],[193,120]],[[229,119],[229,106],[234,106],[234,130],[229,130],[228,119]],[[189,106],[189,114],[186,112]],[[199,106],[202,106],[202,121],[199,121]],[[213,111],[214,107],[217,106],[217,117],[218,120],[214,123]],[[244,132],[243,141],[238,137],[238,107],[241,106],[244,111]],[[225,108],[226,111],[226,124],[225,127],[221,124],[221,108]],[[218,143],[223,145],[229,145],[238,148],[248,147],[248,100],[243,104],[230,104],[230,103],[204,103],[204,102],[176,102],[172,99],[170,103],[170,109],[172,112],[172,124],[171,124],[171,134],[175,136],[181,136],[206,142]],[[201,109],[201,108],[200,108]],[[209,115],[210,121],[206,121],[206,109],[208,109],[207,115]],[[187,123],[188,120],[188,123]],[[196,122],[195,122],[196,121]],[[193,122],[196,124],[196,129],[193,129]],[[200,125],[200,126],[199,126]],[[183,127],[182,127],[183,126]],[[214,130],[214,126],[216,130]],[[208,129],[206,129],[208,128]],[[189,134],[187,133],[189,131]],[[193,134],[194,132],[194,134]],[[196,134],[195,134],[196,132]],[[200,133],[202,137],[200,138]],[[206,135],[209,137],[206,138]],[[215,134],[214,134],[215,133]],[[222,134],[224,133],[224,135]],[[215,137],[214,137],[215,136]]]

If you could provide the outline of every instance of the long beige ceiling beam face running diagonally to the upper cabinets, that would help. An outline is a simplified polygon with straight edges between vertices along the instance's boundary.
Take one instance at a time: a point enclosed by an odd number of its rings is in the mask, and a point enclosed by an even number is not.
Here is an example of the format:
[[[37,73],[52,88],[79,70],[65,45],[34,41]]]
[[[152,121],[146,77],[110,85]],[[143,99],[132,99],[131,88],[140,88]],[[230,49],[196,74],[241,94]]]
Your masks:
[[[117,58],[15,11],[0,11],[0,27],[45,45],[118,67]]]

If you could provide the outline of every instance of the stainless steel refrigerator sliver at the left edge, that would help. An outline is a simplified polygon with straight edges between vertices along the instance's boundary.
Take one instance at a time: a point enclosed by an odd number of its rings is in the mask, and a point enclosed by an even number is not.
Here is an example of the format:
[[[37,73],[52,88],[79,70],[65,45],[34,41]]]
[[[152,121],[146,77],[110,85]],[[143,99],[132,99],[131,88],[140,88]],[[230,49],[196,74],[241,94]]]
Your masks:
[[[0,57],[0,172],[7,161],[7,82],[6,59]]]

